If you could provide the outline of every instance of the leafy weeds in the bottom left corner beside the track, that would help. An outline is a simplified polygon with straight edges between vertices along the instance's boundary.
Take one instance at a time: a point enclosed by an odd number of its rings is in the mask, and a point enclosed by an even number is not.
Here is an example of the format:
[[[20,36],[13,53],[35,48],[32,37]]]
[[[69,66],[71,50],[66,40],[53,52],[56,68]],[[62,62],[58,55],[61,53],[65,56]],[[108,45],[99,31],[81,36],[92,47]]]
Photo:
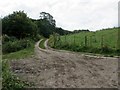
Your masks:
[[[2,78],[2,90],[23,90],[25,86],[30,85],[21,81],[9,71],[8,60],[2,61]]]

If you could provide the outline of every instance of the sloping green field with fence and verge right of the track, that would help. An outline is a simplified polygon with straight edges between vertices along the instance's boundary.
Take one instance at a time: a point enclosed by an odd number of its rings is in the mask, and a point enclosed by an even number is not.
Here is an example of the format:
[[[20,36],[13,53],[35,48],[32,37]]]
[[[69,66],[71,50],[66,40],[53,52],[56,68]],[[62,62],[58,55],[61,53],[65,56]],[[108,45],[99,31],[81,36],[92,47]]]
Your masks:
[[[56,36],[50,42],[58,49],[113,55],[118,53],[118,28]]]

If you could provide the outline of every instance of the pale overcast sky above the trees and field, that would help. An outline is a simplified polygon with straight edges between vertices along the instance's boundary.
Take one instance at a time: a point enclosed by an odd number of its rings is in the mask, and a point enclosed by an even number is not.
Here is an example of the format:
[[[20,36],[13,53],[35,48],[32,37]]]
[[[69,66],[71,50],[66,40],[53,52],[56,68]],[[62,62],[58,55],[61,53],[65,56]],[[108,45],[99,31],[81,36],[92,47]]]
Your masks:
[[[118,26],[119,0],[0,0],[2,17],[24,10],[31,18],[40,12],[50,13],[57,27],[91,31]]]

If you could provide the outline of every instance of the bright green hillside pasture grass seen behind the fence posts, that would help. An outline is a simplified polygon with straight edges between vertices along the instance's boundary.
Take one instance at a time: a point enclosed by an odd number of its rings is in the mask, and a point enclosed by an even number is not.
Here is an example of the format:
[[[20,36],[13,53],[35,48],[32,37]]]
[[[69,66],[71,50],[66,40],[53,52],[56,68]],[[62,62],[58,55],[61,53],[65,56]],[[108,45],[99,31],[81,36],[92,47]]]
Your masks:
[[[66,42],[68,44],[83,46],[85,45],[85,36],[87,36],[87,46],[100,48],[103,36],[104,46],[108,46],[113,49],[117,48],[118,29],[101,30],[96,32],[81,32],[67,35]],[[61,40],[62,43],[65,43],[65,36],[62,36]]]

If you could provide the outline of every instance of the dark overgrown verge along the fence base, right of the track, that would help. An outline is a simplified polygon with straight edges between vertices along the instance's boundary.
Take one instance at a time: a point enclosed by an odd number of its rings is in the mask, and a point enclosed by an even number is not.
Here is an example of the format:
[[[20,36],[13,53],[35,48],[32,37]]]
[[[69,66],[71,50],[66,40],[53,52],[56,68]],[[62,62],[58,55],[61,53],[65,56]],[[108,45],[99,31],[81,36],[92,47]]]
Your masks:
[[[102,55],[106,57],[120,56],[120,50],[114,50],[108,47],[103,47],[103,48],[85,47],[85,46],[79,46],[79,45],[61,43],[61,42],[57,42],[56,44],[54,44],[53,37],[50,37],[48,41],[48,45],[58,50],[69,50],[74,52],[90,53],[90,54]]]

